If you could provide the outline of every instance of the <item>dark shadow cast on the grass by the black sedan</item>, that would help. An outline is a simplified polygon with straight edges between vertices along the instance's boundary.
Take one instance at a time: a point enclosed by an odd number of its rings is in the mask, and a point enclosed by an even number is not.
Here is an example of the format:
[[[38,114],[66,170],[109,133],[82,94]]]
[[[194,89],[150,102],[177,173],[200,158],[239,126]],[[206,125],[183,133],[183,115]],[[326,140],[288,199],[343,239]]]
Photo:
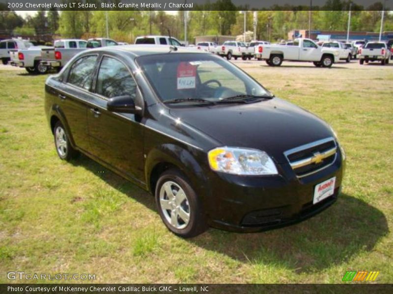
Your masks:
[[[97,174],[119,192],[157,213],[154,197],[128,180],[84,155],[72,163]],[[388,232],[386,217],[380,210],[361,199],[340,194],[325,211],[295,225],[248,234],[210,228],[186,240],[243,263],[274,265],[301,273],[345,263],[360,251],[370,252]]]

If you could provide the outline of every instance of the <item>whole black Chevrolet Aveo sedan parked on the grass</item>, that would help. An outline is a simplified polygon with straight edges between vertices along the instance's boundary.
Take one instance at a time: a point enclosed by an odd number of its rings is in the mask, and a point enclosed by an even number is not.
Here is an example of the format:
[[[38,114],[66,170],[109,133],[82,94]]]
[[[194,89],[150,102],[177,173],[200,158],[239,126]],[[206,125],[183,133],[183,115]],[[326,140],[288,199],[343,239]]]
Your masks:
[[[339,194],[345,154],[332,128],[217,55],[86,50],[45,91],[58,156],[82,152],[150,191],[179,236],[301,221]]]

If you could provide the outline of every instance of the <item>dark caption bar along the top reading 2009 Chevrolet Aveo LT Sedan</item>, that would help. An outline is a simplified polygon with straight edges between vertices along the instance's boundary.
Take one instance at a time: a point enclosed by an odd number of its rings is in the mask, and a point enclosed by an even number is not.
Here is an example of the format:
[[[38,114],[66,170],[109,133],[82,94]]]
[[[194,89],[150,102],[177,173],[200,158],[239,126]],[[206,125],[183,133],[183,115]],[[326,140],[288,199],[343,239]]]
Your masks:
[[[351,4],[351,8],[350,7]],[[391,10],[384,0],[0,0],[0,10]]]

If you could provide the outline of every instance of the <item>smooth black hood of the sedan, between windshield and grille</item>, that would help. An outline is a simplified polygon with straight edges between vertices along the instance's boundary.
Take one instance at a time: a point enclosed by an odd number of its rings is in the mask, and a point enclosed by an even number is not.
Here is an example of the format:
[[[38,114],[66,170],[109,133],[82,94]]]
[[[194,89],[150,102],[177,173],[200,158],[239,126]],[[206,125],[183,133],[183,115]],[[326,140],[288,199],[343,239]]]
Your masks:
[[[280,98],[248,104],[172,108],[170,114],[217,141],[222,146],[266,151],[277,162],[287,162],[283,152],[327,137],[330,126]]]

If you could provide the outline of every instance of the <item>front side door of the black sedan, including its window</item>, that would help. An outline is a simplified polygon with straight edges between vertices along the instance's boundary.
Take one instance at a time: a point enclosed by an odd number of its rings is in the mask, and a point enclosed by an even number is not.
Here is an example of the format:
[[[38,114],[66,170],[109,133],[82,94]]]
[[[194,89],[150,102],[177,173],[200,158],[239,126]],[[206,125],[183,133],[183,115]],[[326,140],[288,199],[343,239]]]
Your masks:
[[[136,98],[137,83],[126,64],[104,55],[98,70],[93,106],[87,112],[92,154],[128,176],[143,181],[143,127],[134,114],[107,110],[112,97]]]

